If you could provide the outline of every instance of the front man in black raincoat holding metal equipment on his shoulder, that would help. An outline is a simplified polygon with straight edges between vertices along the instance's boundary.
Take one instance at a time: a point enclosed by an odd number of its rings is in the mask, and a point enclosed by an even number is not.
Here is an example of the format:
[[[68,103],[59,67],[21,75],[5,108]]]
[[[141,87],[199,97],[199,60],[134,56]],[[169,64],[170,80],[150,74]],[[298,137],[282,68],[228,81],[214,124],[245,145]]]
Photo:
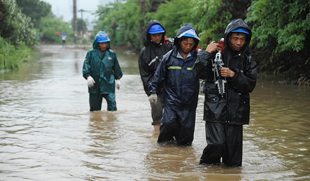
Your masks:
[[[256,85],[257,68],[252,59],[249,42],[252,32],[242,19],[232,20],[224,33],[223,68],[225,93],[218,93],[212,60],[218,43],[211,42],[198,54],[193,73],[205,80],[203,120],[207,146],[202,152],[200,164],[224,163],[230,167],[242,165],[242,125],[248,125],[250,96]]]

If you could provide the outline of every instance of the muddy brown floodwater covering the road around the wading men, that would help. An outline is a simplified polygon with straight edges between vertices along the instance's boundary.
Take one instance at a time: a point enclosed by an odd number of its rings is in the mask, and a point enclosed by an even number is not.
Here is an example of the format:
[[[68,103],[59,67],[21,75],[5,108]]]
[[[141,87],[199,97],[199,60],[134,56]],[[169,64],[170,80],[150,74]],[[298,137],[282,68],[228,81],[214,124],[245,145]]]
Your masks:
[[[118,111],[89,111],[87,51],[42,46],[49,56],[0,73],[1,181],[310,180],[310,88],[259,77],[244,126],[243,166],[198,165],[206,146],[203,96],[191,147],[156,143],[138,55],[116,51]]]

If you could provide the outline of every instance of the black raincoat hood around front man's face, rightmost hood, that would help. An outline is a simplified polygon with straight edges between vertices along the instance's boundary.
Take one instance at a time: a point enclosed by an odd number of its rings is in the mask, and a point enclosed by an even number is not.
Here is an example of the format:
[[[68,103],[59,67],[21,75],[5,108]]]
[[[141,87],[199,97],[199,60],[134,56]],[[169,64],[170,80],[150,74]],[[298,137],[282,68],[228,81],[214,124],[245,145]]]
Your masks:
[[[226,27],[225,33],[224,33],[224,39],[225,39],[225,48],[229,47],[230,44],[230,38],[228,37],[228,35],[230,34],[230,32],[232,32],[234,29],[236,28],[246,28],[248,29],[248,33],[247,37],[246,37],[246,43],[243,45],[241,51],[243,50],[248,50],[251,53],[251,50],[249,48],[249,44],[252,38],[252,31],[251,29],[248,27],[248,25],[246,24],[246,22],[244,22],[242,19],[234,19],[232,20]]]

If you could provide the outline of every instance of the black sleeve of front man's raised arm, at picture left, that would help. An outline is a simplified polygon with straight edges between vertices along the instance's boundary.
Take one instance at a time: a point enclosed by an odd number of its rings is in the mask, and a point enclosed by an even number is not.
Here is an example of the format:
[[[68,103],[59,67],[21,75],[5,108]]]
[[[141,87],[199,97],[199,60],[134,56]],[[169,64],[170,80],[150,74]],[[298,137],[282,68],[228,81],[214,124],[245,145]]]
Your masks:
[[[212,54],[202,50],[198,55],[197,59],[192,68],[192,72],[199,79],[206,79],[212,71]],[[212,72],[211,72],[212,73]]]

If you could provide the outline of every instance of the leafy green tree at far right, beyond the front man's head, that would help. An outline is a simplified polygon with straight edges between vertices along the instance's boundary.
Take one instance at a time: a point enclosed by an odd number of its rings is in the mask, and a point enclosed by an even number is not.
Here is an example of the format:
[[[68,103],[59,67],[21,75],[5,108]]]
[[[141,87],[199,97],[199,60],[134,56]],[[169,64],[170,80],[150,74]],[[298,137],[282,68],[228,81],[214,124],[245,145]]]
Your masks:
[[[248,10],[252,44],[271,55],[265,66],[278,75],[310,79],[310,1],[254,0]]]

